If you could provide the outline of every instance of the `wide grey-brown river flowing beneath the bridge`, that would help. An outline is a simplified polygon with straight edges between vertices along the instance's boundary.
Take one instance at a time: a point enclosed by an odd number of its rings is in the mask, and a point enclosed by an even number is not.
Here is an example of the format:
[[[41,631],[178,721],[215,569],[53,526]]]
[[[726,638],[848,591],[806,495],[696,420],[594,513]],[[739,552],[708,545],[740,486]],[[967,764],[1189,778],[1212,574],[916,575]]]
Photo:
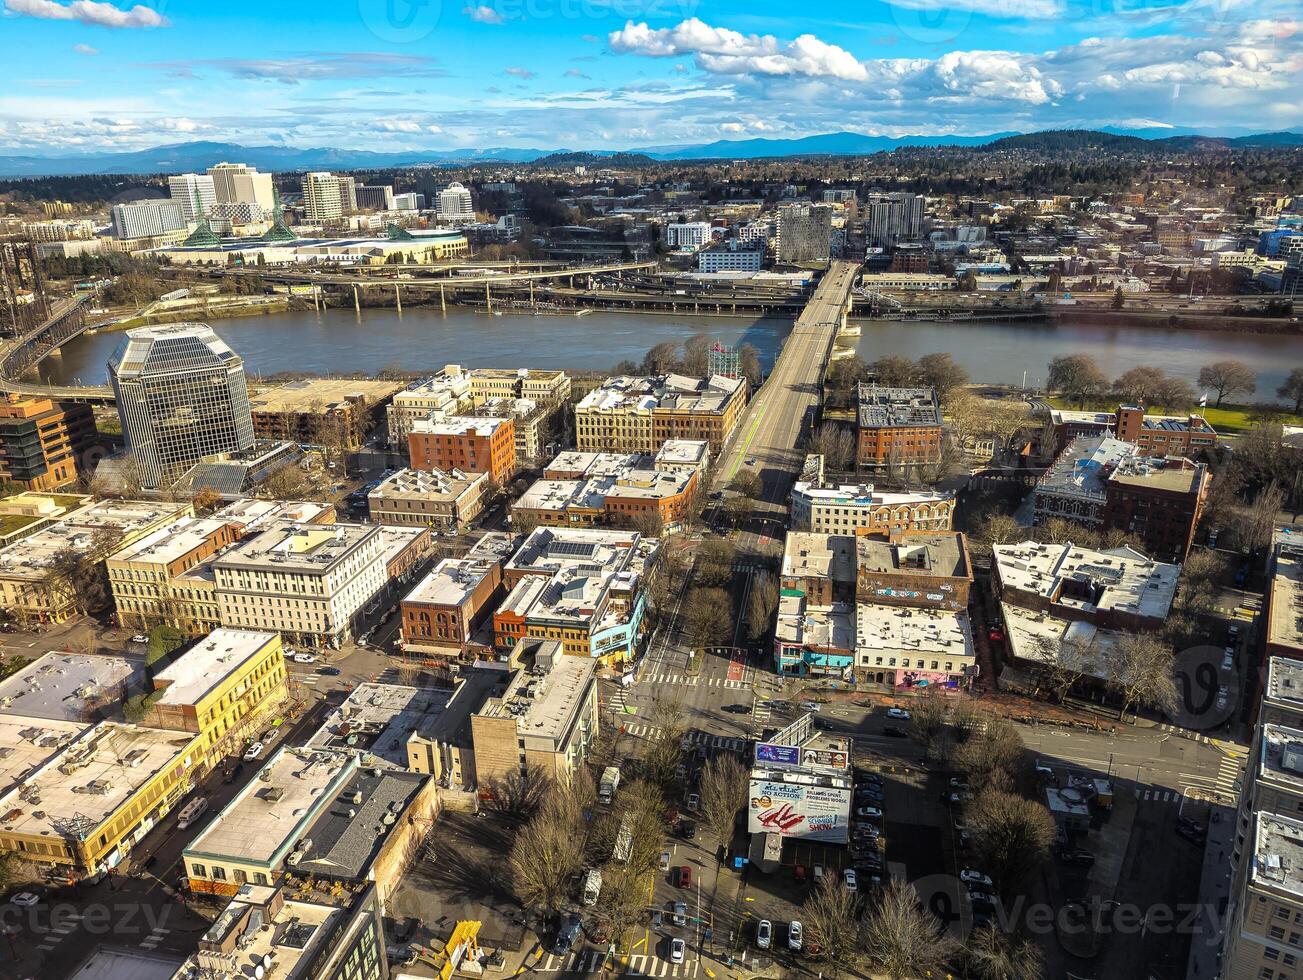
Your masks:
[[[251,375],[279,371],[337,373],[384,368],[425,371],[444,364],[468,368],[566,368],[609,370],[619,361],[640,361],[654,344],[705,331],[726,344],[754,344],[766,368],[773,364],[786,319],[741,317],[661,317],[590,313],[585,317],[485,315],[426,308],[326,313],[279,313],[214,321],[214,328],[245,360]],[[1194,382],[1199,369],[1217,360],[1243,361],[1257,373],[1260,400],[1294,368],[1303,366],[1303,339],[1270,334],[1233,334],[1160,327],[1104,327],[1057,323],[967,321],[958,323],[864,321],[856,348],[872,361],[885,354],[920,357],[949,351],[973,381],[1028,383],[1044,381],[1050,358],[1088,353],[1109,378],[1136,365],[1153,365]],[[121,334],[103,332],[70,341],[42,374],[60,384],[98,384]]]

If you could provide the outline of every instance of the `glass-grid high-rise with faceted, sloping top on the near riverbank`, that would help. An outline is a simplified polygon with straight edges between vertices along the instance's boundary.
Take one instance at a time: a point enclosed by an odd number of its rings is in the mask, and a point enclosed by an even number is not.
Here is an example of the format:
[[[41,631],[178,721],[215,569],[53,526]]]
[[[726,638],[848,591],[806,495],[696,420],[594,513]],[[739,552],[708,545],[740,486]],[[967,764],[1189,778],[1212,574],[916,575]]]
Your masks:
[[[129,330],[108,377],[146,487],[205,456],[253,447],[244,361],[207,323]]]

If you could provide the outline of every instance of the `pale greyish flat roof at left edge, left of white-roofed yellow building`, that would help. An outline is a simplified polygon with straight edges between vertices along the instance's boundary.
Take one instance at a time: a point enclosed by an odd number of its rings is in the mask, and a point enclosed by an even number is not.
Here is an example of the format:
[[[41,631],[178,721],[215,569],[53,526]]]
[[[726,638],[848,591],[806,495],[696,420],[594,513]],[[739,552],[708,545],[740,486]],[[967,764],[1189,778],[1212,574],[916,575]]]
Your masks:
[[[134,657],[47,653],[0,680],[0,714],[83,721],[116,710],[145,682],[145,661]]]

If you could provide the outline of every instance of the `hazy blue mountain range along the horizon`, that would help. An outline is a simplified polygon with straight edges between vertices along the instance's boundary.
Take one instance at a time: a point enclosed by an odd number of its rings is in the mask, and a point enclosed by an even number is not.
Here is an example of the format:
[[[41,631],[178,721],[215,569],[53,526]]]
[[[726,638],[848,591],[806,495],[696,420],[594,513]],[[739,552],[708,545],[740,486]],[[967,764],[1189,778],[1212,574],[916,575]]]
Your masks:
[[[1209,137],[1194,130],[1114,129],[1049,130],[1045,133],[989,133],[986,136],[904,136],[885,137],[863,133],[823,133],[794,139],[718,139],[687,146],[652,146],[640,150],[584,151],[594,160],[616,154],[642,155],[652,160],[764,159],[784,156],[861,156],[902,147],[964,146],[990,150],[1071,150],[1111,151],[1194,150],[1194,149],[1272,149],[1303,146],[1303,133],[1259,133],[1240,137]],[[465,163],[533,163],[564,149],[487,147],[459,150],[344,150],[331,146],[241,146],[238,143],[193,142],[155,146],[125,152],[86,152],[78,155],[39,155],[0,152],[0,177],[74,176],[86,173],[186,173],[203,171],[219,160],[238,160],[262,171],[309,169],[386,169],[420,164],[453,166]],[[579,154],[575,154],[579,155]]]

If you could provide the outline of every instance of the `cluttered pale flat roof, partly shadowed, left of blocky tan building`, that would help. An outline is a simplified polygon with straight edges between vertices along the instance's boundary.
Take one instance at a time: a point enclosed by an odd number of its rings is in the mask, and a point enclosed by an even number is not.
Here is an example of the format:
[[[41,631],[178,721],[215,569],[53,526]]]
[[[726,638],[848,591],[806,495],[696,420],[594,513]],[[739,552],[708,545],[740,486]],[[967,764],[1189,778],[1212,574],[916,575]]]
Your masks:
[[[374,756],[404,769],[408,738],[433,725],[451,697],[452,691],[443,688],[358,684],[326,715],[308,747]]]

